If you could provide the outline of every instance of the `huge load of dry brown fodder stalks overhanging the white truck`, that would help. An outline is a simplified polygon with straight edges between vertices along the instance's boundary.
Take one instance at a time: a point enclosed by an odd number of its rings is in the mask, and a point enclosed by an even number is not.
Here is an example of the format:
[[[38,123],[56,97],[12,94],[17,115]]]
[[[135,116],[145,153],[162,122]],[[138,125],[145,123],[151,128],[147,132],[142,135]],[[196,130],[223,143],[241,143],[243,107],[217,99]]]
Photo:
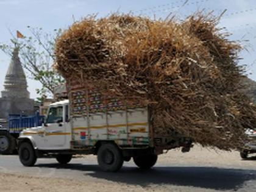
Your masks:
[[[155,135],[176,130],[203,146],[238,148],[256,110],[238,92],[241,46],[216,24],[200,14],[183,22],[91,16],[57,39],[55,68],[102,94],[149,104]]]

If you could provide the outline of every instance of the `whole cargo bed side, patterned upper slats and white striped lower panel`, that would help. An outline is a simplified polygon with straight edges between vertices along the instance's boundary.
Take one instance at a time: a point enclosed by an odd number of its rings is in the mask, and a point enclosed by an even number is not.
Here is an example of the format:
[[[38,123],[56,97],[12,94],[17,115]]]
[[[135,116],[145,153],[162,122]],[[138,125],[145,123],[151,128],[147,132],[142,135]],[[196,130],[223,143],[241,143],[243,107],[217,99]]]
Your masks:
[[[148,107],[102,95],[79,82],[70,84],[73,137],[77,145],[93,146],[99,140],[121,145],[149,144]]]

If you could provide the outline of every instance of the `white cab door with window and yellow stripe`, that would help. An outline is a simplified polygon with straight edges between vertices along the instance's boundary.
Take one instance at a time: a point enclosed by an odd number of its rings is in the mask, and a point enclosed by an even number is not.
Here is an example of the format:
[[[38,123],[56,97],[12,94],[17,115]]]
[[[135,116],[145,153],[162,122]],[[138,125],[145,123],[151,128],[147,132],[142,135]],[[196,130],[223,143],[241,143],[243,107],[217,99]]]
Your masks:
[[[62,149],[66,143],[65,110],[63,106],[49,108],[46,119],[44,146],[49,149]]]

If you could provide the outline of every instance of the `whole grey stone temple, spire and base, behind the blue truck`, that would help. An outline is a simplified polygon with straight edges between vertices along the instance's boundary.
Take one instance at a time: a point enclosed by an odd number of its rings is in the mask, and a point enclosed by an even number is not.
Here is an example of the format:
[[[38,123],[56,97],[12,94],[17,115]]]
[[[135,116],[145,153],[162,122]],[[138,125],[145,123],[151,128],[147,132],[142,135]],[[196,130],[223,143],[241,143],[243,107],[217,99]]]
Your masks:
[[[19,49],[13,50],[12,59],[5,74],[4,90],[0,98],[0,119],[7,119],[9,114],[33,115],[34,99],[27,91],[27,80],[18,56]]]

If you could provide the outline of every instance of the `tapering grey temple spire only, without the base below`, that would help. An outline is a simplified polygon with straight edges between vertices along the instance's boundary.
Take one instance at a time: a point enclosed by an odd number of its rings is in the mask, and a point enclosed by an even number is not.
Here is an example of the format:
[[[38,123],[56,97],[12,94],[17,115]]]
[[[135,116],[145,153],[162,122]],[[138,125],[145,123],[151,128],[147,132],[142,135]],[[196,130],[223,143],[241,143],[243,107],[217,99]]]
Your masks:
[[[12,59],[5,75],[2,98],[29,98],[27,80],[19,58],[19,48],[15,46]]]

